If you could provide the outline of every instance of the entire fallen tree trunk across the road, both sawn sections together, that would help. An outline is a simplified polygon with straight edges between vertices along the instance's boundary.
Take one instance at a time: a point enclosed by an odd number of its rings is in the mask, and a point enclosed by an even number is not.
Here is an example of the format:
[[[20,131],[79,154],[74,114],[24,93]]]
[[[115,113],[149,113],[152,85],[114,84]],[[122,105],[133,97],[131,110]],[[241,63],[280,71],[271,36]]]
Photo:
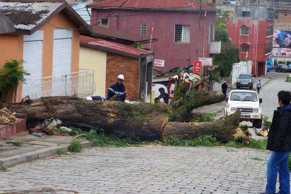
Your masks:
[[[176,136],[193,139],[212,135],[219,140],[235,138],[239,114],[223,117],[214,122],[168,122],[172,111],[165,103],[128,104],[120,101],[92,101],[77,97],[42,97],[31,103],[0,104],[17,113],[26,113],[28,122],[42,122],[57,118],[66,127],[99,127],[120,135],[141,140]]]

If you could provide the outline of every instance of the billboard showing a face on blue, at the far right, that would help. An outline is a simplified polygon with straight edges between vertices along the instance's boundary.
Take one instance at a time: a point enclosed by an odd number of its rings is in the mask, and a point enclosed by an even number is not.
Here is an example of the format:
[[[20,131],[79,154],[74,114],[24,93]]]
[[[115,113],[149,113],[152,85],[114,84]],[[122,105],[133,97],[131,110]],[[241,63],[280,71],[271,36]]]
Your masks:
[[[273,53],[276,57],[291,57],[291,31],[274,31]]]

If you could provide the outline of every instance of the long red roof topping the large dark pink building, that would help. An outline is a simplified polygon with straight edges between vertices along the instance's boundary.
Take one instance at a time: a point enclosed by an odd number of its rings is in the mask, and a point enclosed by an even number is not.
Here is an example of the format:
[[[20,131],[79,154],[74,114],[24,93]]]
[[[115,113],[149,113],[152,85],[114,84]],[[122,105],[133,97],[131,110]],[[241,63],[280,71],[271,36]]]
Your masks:
[[[87,7],[99,9],[119,8],[121,9],[148,9],[167,11],[199,11],[200,3],[194,0],[102,0],[88,4]],[[125,2],[125,3],[124,3]],[[124,3],[124,4],[123,4]],[[202,11],[218,11],[217,8],[201,4]]]

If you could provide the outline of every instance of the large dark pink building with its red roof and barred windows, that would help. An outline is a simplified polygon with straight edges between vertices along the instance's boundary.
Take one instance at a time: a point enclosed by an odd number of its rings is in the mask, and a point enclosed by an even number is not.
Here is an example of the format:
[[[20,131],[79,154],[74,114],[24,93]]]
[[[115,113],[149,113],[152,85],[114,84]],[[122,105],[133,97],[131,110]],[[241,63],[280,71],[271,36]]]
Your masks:
[[[149,37],[143,45],[154,52],[154,67],[167,71],[210,57],[214,40],[215,7],[194,0],[103,0],[92,8],[91,25]]]

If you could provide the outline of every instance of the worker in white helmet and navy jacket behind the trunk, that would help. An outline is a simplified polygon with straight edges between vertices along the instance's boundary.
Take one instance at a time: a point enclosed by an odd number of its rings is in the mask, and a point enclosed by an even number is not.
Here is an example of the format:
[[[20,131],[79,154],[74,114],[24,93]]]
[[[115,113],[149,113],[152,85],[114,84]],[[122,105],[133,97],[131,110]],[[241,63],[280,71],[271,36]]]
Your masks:
[[[111,85],[108,88],[107,99],[111,99],[114,95],[117,95],[118,101],[125,101],[126,91],[123,84],[124,76],[122,74],[118,75],[117,81],[115,84]]]

